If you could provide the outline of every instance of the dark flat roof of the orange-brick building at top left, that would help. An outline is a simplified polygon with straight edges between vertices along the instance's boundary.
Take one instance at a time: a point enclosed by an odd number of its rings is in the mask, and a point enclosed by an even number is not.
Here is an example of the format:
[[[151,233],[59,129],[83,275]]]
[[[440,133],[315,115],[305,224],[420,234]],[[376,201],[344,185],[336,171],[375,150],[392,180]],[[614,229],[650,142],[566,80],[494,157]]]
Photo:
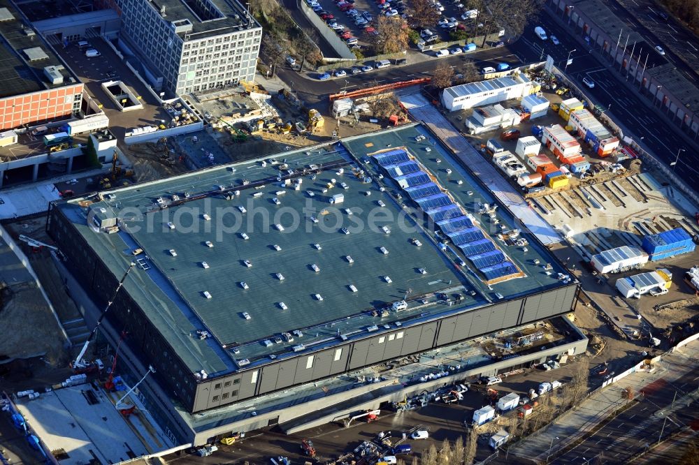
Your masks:
[[[79,82],[9,0],[0,0],[0,37],[0,98]],[[44,75],[46,66],[59,66],[64,82],[51,84]]]

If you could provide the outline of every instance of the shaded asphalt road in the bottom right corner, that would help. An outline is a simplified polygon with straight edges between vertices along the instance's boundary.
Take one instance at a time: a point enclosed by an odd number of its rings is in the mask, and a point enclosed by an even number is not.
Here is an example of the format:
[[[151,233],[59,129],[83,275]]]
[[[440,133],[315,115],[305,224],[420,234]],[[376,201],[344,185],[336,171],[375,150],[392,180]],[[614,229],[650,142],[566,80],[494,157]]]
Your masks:
[[[645,395],[634,406],[619,414],[576,448],[556,457],[552,463],[593,464],[598,463],[598,458],[605,464],[626,463],[630,457],[658,441],[665,417],[656,415],[656,412],[672,404],[675,392],[677,399],[682,399],[689,391],[696,390],[698,375],[699,370],[694,369],[672,383],[661,378],[647,385]],[[686,401],[678,404],[676,400],[675,407],[678,405],[677,410],[666,415],[668,420],[662,431],[663,437],[696,421],[696,401],[687,405]]]

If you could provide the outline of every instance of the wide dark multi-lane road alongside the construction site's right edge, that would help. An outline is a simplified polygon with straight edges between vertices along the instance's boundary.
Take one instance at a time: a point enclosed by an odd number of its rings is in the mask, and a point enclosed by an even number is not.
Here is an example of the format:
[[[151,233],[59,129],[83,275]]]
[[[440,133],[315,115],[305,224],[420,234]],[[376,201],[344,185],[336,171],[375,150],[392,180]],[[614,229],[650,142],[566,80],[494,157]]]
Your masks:
[[[551,41],[542,42],[533,32],[537,24],[541,25],[549,35],[554,34],[559,38],[561,44],[553,45]],[[546,55],[550,54],[561,69],[565,68],[568,53],[575,50],[570,53],[572,64],[566,70],[568,76],[580,89],[584,89],[597,105],[607,108],[612,119],[633,131],[637,142],[642,138],[640,140],[642,146],[647,147],[661,161],[670,165],[675,162],[679,153],[679,161],[675,165],[676,174],[690,186],[699,186],[699,152],[693,150],[677,136],[672,123],[662,115],[663,108],[658,108],[657,112],[649,111],[642,103],[642,97],[638,91],[622,84],[624,77],[618,70],[610,71],[606,61],[604,63],[599,61],[596,55],[589,53],[589,48],[586,48],[582,42],[569,36],[547,10],[542,13],[537,24],[527,27],[523,36],[510,45],[510,50],[527,62],[538,61],[542,55],[546,59]],[[585,76],[595,82],[593,89],[588,89],[583,84],[582,78]],[[684,152],[679,152],[681,150]]]

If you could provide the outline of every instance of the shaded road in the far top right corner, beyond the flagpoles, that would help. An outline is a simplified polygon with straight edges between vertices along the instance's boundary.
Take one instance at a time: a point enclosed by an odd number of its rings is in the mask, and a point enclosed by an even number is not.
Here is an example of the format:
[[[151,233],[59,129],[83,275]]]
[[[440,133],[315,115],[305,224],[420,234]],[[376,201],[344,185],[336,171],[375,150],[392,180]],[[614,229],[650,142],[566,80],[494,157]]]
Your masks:
[[[633,27],[651,47],[661,45],[665,58],[695,84],[699,84],[699,40],[673,17],[663,20],[663,9],[652,0],[606,0],[614,14]],[[623,37],[622,37],[623,40]],[[655,50],[654,50],[655,52]],[[656,52],[657,54],[657,52]]]

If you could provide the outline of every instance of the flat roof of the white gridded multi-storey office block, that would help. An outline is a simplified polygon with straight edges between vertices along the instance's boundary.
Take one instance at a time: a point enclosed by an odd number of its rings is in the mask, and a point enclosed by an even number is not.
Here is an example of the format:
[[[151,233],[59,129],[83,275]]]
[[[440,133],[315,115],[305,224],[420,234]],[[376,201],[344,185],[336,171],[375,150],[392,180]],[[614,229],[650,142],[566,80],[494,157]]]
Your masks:
[[[260,27],[238,0],[150,0],[147,3],[159,12],[164,11],[164,19],[175,26],[184,27],[189,22],[192,27],[184,33],[185,40]]]

